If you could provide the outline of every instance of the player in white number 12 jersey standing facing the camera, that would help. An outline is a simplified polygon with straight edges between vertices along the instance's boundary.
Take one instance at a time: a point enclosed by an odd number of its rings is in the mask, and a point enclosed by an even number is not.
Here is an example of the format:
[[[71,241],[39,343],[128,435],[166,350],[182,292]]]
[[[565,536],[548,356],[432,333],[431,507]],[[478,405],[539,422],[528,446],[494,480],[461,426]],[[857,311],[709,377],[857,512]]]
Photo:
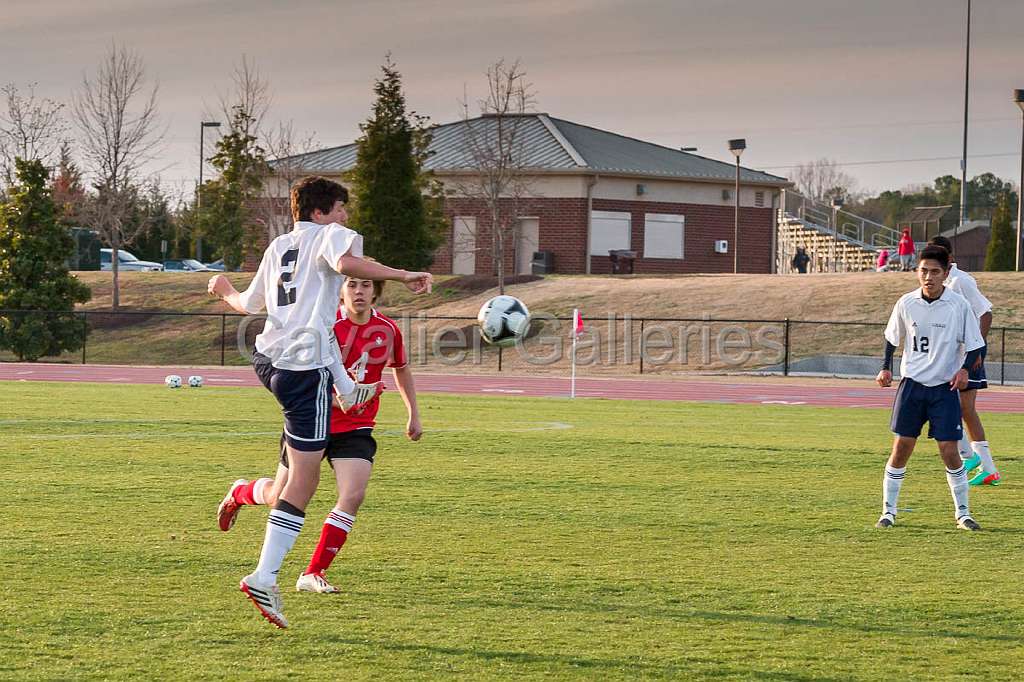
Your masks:
[[[879,528],[896,523],[906,465],[928,422],[928,435],[938,441],[939,456],[946,465],[956,527],[981,529],[971,516],[967,470],[956,442],[964,430],[958,392],[967,387],[968,368],[981,356],[985,342],[971,304],[943,285],[948,272],[949,252],[926,247],[918,262],[921,288],[896,302],[886,327],[885,361],[876,378],[880,386],[892,385],[893,353],[901,343],[903,357],[902,380],[893,402],[891,428],[895,438],[882,482],[882,516],[874,524]]]

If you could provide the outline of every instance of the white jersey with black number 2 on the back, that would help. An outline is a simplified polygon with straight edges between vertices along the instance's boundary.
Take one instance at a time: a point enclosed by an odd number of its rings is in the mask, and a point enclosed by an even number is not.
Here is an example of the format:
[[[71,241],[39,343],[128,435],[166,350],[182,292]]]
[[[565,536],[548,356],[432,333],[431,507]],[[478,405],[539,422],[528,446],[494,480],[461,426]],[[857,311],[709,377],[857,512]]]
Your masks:
[[[281,370],[341,367],[334,323],[345,276],[342,256],[362,257],[362,237],[336,222],[296,222],[263,253],[256,276],[242,293],[251,313],[266,307],[256,350]],[[337,382],[339,377],[335,377]]]

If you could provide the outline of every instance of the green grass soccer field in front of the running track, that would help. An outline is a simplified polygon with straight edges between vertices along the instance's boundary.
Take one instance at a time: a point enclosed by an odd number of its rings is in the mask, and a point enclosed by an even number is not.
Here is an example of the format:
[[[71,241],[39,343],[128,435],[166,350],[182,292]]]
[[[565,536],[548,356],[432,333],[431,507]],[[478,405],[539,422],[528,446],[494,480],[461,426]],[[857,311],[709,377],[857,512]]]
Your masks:
[[[953,529],[934,446],[873,529],[887,414],[784,406],[385,396],[377,470],[331,576],[296,594],[324,478],[282,571],[288,631],[238,591],[271,474],[262,390],[0,382],[0,679],[1019,678],[1020,416],[1007,478]],[[325,467],[326,470],[326,467]],[[1017,671],[1016,673],[1014,671]]]

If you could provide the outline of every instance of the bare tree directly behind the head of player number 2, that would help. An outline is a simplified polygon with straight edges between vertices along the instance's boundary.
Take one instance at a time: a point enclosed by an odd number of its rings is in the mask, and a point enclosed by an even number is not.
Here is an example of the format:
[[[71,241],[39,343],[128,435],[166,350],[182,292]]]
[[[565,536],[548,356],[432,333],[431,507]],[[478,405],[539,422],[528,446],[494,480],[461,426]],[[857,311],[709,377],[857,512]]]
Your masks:
[[[263,196],[257,204],[254,218],[266,233],[267,241],[292,228],[292,208],[289,191],[292,184],[305,175],[305,155],[322,148],[315,133],[298,135],[293,123],[279,123],[263,136],[263,148],[272,159],[263,182]]]

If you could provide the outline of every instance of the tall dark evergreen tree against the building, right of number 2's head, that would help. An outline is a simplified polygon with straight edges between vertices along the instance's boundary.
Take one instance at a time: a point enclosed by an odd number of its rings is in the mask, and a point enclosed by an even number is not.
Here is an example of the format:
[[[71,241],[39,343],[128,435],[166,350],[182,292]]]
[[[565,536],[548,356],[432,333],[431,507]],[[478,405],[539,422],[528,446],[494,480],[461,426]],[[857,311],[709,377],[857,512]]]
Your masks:
[[[401,74],[391,55],[374,84],[377,99],[359,126],[349,223],[364,238],[367,255],[388,265],[422,270],[443,239],[440,183],[423,168],[430,144],[425,117],[406,110]]]

